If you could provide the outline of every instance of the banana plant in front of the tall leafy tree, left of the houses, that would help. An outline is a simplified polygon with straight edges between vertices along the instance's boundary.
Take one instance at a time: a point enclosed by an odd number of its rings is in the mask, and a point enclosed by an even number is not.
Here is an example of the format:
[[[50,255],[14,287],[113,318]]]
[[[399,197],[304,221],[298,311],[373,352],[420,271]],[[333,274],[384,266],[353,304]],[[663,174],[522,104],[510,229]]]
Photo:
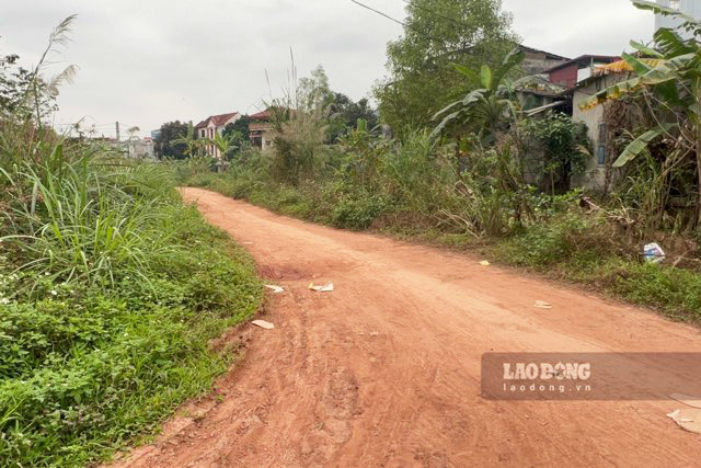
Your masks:
[[[504,124],[509,121],[509,116],[516,115],[516,104],[509,99],[510,87],[507,76],[525,57],[526,54],[517,48],[504,58],[496,70],[484,65],[479,72],[455,65],[476,89],[434,116],[434,119],[440,118],[440,123],[433,135],[438,136],[450,130],[458,138],[461,135],[474,134],[483,144],[493,142]]]

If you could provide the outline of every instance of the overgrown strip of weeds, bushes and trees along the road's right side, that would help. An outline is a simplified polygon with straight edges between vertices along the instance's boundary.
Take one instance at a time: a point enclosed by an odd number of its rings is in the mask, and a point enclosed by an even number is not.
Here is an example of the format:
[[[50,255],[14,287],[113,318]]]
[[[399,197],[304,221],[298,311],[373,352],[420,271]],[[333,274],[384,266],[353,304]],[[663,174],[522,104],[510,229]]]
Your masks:
[[[492,12],[480,14],[495,19],[489,37],[510,44],[513,36],[497,34],[508,19],[497,13],[498,2],[487,3]],[[677,14],[650,2],[636,4]],[[451,18],[471,14],[461,5],[444,7]],[[587,103],[605,105],[608,118],[618,123],[611,125],[617,153],[607,165],[606,190],[588,193],[571,190],[593,158],[586,127],[558,112],[540,118],[524,112],[514,89],[524,59],[518,50],[481,67],[441,55],[452,62],[450,92],[423,101],[397,94],[403,85],[410,93],[422,80],[439,85],[430,81],[432,67],[417,58],[433,50],[433,43],[423,54],[417,49],[426,13],[407,11],[407,24],[414,26],[390,46],[397,80],[376,90],[380,117],[392,122],[393,133],[360,118],[331,139],[327,81],[317,77],[313,92],[307,81],[303,92],[291,87],[287,96],[269,103],[274,150],[242,147],[221,173],[210,171],[206,158],[191,158],[172,165],[180,183],[329,226],[479,251],[655,307],[674,319],[701,322],[698,44],[668,30],[658,33],[656,46],[632,43],[636,54],[623,57],[631,82]],[[682,28],[701,32],[696,21],[685,21]],[[655,61],[643,60],[651,56]],[[420,65],[423,77],[416,76]],[[443,65],[439,69],[448,72]],[[400,115],[409,109],[402,99],[410,98],[411,105],[425,106],[412,111],[422,122]],[[633,114],[630,110],[635,115],[623,118],[621,113]],[[662,264],[643,255],[653,241],[666,251]]]

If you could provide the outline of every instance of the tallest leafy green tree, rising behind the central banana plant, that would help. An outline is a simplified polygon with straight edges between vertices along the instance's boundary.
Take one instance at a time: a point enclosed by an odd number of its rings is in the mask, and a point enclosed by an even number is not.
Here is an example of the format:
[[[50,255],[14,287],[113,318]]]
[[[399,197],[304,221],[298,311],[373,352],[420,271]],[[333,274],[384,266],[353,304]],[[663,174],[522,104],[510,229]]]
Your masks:
[[[501,7],[501,0],[411,0],[403,36],[388,46],[390,77],[375,88],[383,122],[400,132],[427,126],[438,110],[473,89],[453,62],[499,64],[517,42]]]

